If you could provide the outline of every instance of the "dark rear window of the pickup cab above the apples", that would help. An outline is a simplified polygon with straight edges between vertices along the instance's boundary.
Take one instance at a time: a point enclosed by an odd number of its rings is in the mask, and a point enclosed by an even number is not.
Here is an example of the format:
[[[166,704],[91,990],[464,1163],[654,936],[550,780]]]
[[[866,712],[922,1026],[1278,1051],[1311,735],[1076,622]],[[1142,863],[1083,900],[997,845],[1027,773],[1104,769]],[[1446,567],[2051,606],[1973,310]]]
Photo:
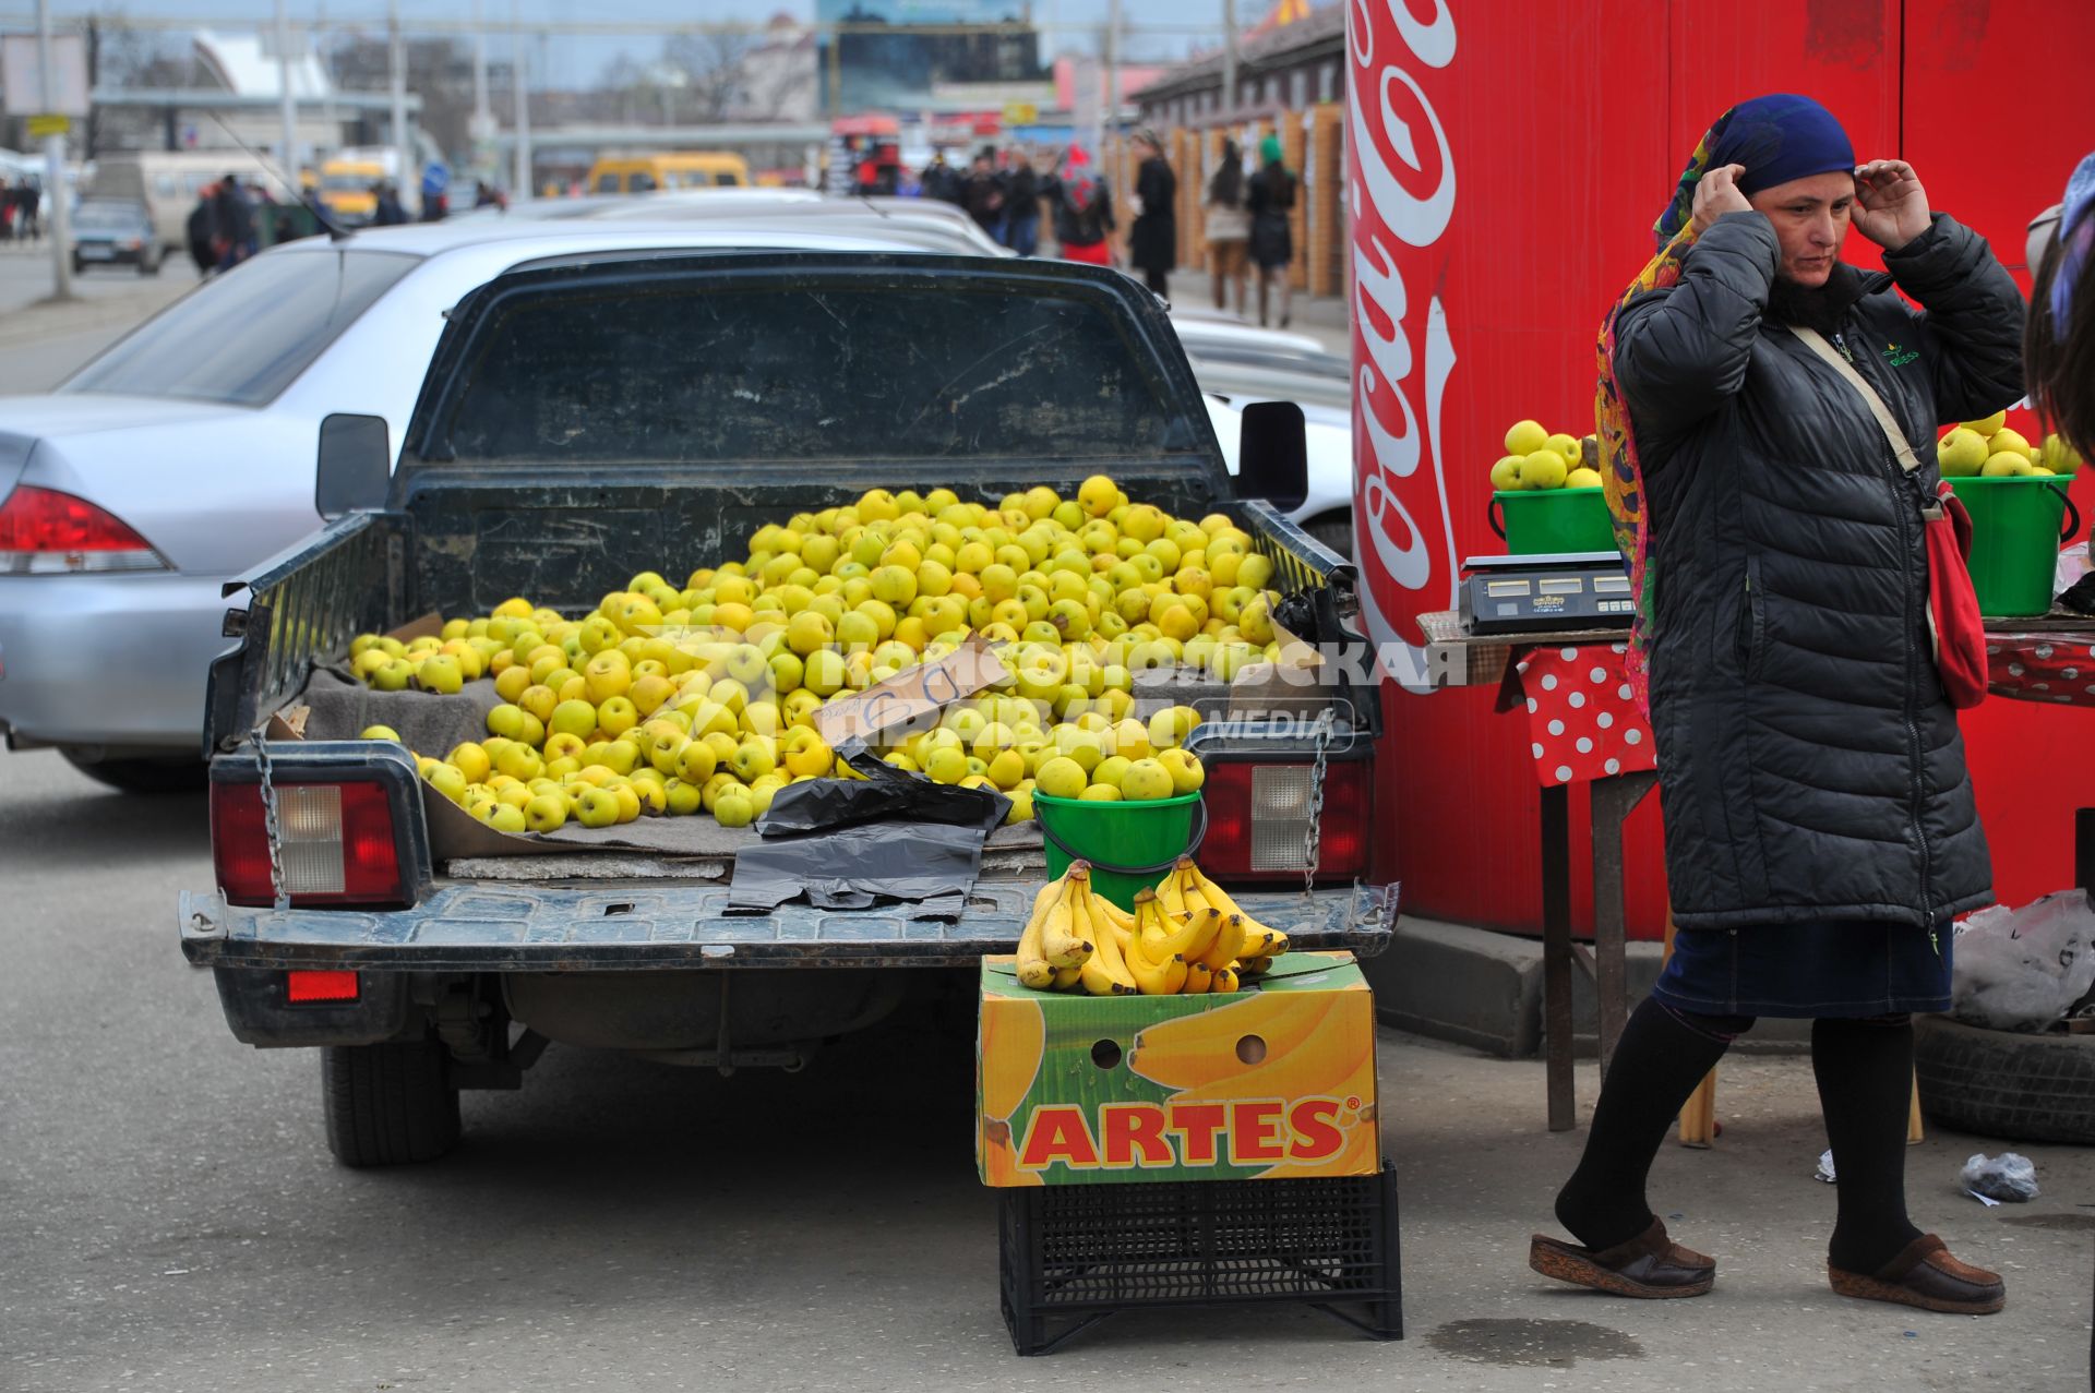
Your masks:
[[[1190,396],[1190,392],[1188,392]],[[432,459],[1106,459],[1205,448],[1125,308],[991,279],[517,293]]]

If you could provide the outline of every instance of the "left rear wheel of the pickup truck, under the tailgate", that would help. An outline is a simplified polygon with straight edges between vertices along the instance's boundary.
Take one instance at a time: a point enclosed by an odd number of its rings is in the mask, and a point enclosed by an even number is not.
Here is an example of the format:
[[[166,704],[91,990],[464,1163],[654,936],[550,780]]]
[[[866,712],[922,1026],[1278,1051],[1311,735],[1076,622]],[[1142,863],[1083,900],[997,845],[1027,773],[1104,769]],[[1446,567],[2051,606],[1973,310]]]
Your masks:
[[[459,1089],[436,1041],[323,1047],[321,1104],[341,1165],[436,1160],[459,1142]]]

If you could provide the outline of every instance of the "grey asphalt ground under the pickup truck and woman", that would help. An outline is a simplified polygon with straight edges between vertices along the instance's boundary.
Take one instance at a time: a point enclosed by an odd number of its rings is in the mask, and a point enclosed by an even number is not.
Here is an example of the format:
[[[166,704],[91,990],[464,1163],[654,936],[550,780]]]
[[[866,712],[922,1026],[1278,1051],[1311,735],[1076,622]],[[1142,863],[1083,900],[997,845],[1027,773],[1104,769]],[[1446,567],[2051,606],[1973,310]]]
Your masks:
[[[1716,1295],[1622,1303],[1525,1269],[1578,1133],[1534,1062],[1387,1035],[1410,1339],[1314,1313],[1121,1318],[1014,1359],[995,1200],[970,1163],[966,1022],[913,1014],[800,1077],[723,1081],[553,1047],[469,1093],[444,1163],[331,1165],[316,1062],[224,1031],[176,951],[210,882],[199,798],[101,792],[0,756],[0,1387],[105,1389],[2078,1389],[2095,1156],[1980,1209],[1911,1152],[1917,1219],[2007,1272],[2003,1315],[1850,1303],[1810,1066],[1726,1066],[1718,1150],[1668,1148],[1659,1204]],[[1590,1104],[1594,1079],[1582,1066]]]

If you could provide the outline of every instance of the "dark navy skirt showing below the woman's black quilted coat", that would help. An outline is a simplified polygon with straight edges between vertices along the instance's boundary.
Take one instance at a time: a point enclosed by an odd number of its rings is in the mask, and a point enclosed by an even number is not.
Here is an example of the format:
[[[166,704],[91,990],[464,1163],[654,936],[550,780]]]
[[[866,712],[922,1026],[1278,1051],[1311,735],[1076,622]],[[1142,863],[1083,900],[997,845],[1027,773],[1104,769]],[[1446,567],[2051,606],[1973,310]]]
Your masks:
[[[1682,928],[1651,989],[1701,1016],[1896,1016],[1950,1008],[1950,926],[1821,920]]]

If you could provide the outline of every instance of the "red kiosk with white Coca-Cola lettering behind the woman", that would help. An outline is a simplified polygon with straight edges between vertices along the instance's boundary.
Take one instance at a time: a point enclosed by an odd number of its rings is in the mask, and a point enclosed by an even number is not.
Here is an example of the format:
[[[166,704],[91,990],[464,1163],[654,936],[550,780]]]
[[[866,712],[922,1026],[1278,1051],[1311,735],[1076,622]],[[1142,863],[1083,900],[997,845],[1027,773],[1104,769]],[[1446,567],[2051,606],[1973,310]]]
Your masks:
[[[1816,96],[1860,159],[1913,161],[2028,289],[2024,226],[2095,149],[2078,80],[2047,54],[2089,52],[2095,4],[2066,0],[1349,0],[1355,555],[1397,679],[1374,878],[1404,880],[1408,913],[1540,924],[1525,723],[1490,689],[1423,689],[1416,618],[1456,607],[1462,557],[1504,549],[1485,476],[1506,427],[1592,429],[1601,316],[1651,256],[1707,124],[1760,92]],[[1873,264],[1875,247],[1850,237],[1846,253]],[[2095,513],[2095,484],[2074,492]],[[1994,700],[1963,731],[2001,899],[2074,884],[2095,714]],[[1578,788],[1571,815],[1580,844]],[[1659,817],[1647,798],[1626,827],[1636,938],[1666,917]],[[1573,867],[1586,930],[1584,857]]]

